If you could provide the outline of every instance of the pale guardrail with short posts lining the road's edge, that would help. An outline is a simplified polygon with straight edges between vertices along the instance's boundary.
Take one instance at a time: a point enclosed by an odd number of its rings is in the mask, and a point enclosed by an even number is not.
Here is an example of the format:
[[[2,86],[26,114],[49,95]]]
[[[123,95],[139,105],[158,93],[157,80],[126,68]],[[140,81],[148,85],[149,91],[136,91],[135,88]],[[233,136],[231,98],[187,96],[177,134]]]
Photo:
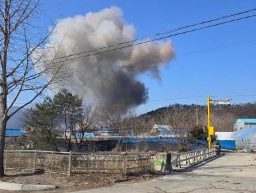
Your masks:
[[[172,169],[172,166],[181,167],[182,163],[184,162],[185,164],[191,163],[191,160],[193,161],[204,160],[205,158],[216,156],[217,152],[218,152],[218,148],[213,147],[213,148],[201,148],[201,149],[192,150],[189,152],[170,154],[170,161],[168,161],[169,167],[170,169]]]

